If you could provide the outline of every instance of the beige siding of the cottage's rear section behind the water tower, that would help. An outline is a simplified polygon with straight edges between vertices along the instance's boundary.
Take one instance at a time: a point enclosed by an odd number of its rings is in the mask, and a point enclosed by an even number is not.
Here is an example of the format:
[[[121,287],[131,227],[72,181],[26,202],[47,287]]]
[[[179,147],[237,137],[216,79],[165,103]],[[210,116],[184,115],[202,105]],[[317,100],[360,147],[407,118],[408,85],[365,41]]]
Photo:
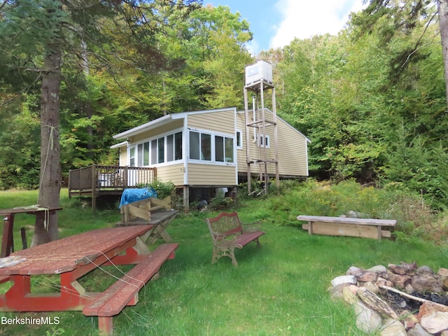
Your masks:
[[[251,117],[251,115],[250,115]],[[266,120],[272,120],[272,113],[267,111]],[[246,121],[244,113],[237,114],[237,129],[243,132],[243,148],[237,149],[238,172],[247,172],[246,164]],[[264,148],[257,146],[257,142],[253,142],[253,129],[249,129],[249,148],[251,149],[251,160],[264,160]],[[257,131],[258,132],[258,131]],[[269,135],[269,148],[266,148],[267,160],[274,160],[274,126],[265,127],[265,135]],[[277,143],[279,155],[279,174],[280,176],[307,176],[307,139],[288,125],[284,120],[277,118]],[[251,171],[257,174],[260,165],[251,165]],[[264,165],[262,165],[264,170]],[[275,174],[275,164],[267,165],[267,172]]]

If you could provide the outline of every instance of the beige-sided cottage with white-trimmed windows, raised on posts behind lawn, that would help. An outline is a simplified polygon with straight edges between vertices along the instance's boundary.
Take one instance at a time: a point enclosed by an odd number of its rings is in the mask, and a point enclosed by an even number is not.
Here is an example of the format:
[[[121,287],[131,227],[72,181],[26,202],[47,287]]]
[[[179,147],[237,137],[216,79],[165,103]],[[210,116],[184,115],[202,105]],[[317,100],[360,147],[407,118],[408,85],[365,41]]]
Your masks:
[[[273,131],[267,127],[264,134],[255,128],[249,132],[246,144],[245,113],[235,108],[175,113],[116,134],[113,138],[123,141],[111,148],[119,149],[121,167],[155,167],[158,180],[183,189],[188,207],[190,199],[207,198],[216,188],[231,190],[246,181],[246,146],[253,157],[262,148],[274,158]],[[308,176],[309,139],[277,117],[276,140],[280,178]],[[267,173],[275,176],[274,167]],[[251,174],[256,178],[258,172],[251,169]]]

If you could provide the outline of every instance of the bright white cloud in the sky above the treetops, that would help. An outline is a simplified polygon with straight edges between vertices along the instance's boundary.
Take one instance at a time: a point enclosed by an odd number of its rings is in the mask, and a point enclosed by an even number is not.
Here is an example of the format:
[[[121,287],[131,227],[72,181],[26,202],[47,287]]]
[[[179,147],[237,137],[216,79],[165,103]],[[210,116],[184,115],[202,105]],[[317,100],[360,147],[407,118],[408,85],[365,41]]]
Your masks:
[[[283,20],[270,41],[270,48],[281,48],[297,38],[337,34],[349,20],[349,13],[363,8],[362,0],[280,0],[276,9]]]

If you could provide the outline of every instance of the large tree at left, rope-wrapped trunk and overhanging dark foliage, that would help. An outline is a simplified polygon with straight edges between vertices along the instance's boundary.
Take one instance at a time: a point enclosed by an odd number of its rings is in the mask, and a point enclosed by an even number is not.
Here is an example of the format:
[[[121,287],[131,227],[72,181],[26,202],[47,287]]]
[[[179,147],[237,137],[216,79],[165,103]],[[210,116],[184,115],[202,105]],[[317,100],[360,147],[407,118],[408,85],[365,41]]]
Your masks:
[[[151,70],[164,64],[153,44],[155,31],[163,27],[156,4],[171,10],[195,8],[190,1],[168,0],[1,3],[0,59],[5,62],[1,78],[13,87],[41,83],[41,206],[52,208],[59,203],[62,59],[78,55],[85,62],[89,51],[97,59],[97,69],[113,77],[120,68]],[[57,215],[50,216],[49,223],[36,223],[32,244],[53,239],[57,239]]]

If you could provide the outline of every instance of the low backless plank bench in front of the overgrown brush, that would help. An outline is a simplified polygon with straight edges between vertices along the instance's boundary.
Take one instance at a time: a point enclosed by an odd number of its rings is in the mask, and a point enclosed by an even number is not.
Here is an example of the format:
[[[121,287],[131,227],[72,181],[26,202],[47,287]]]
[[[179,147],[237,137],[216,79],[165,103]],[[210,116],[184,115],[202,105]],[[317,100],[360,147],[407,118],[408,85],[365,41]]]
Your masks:
[[[307,221],[302,225],[309,235],[351,236],[363,238],[391,237],[391,231],[381,230],[383,227],[393,228],[395,219],[348,218],[327,216],[297,216],[299,221]]]

